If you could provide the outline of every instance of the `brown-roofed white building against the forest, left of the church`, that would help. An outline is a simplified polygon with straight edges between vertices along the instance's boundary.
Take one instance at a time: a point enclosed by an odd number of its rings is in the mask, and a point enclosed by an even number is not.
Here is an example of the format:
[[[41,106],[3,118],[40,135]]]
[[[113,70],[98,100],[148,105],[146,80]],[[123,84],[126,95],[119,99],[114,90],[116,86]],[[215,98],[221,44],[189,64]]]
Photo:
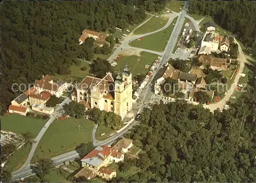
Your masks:
[[[35,80],[34,87],[39,93],[49,91],[59,98],[63,95],[63,91],[67,89],[67,82],[60,80],[57,83],[53,83],[52,77],[47,75],[46,77],[43,76],[41,80]]]

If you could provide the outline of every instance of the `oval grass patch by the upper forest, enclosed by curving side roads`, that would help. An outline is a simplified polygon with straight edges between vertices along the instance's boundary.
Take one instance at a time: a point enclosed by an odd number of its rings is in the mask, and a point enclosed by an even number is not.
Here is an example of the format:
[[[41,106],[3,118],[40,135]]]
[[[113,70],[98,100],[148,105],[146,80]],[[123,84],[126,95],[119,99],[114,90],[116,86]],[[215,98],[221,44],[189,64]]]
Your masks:
[[[160,16],[160,17],[152,17],[148,20],[143,26],[136,29],[134,34],[145,34],[148,32],[156,31],[166,25],[168,18]]]

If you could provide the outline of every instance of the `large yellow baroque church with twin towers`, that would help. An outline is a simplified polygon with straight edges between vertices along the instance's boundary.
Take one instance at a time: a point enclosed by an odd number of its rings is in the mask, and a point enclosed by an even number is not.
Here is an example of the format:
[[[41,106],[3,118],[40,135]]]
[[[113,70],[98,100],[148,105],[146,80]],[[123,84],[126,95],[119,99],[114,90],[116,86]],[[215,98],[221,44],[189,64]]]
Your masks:
[[[86,76],[72,94],[72,100],[76,102],[86,101],[90,108],[113,111],[121,119],[132,110],[132,73],[126,64],[122,76],[112,78],[111,73],[107,73],[102,79]]]

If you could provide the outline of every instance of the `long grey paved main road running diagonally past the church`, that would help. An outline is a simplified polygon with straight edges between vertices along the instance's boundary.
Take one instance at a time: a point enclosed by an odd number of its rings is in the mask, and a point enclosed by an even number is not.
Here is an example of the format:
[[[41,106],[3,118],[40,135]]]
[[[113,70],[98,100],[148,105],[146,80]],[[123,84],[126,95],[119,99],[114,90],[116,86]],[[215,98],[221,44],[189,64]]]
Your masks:
[[[141,112],[143,110],[143,108],[145,107],[145,105],[143,103],[148,102],[150,100],[150,96],[152,94],[151,87],[154,86],[155,80],[157,79],[156,76],[158,76],[158,74],[160,73],[161,67],[169,60],[170,55],[172,54],[172,52],[175,48],[176,42],[178,40],[179,34],[181,32],[181,29],[182,29],[184,21],[185,21],[187,8],[188,8],[188,2],[185,3],[185,5],[183,7],[183,10],[180,12],[180,14],[178,16],[178,19],[176,21],[173,32],[170,35],[168,43],[167,43],[167,45],[165,47],[165,50],[163,52],[163,56],[161,58],[158,70],[152,76],[153,79],[150,82],[148,82],[148,84],[145,86],[145,89],[140,94],[140,97],[142,97],[142,104],[140,106],[139,112]],[[95,144],[95,146],[111,145],[114,141],[116,141],[118,138],[123,136],[123,134],[125,134],[128,130],[130,130],[137,123],[138,123],[138,121],[133,120],[123,130],[121,130],[117,134],[111,136],[109,139]],[[71,152],[53,157],[52,160],[54,161],[54,164],[56,166],[56,165],[62,164],[63,162],[66,162],[66,161],[73,161],[75,158],[78,158],[78,157],[79,157],[79,154],[78,154],[77,151],[71,151]],[[16,180],[16,179],[19,179],[20,177],[26,177],[26,176],[29,176],[29,175],[32,175],[32,174],[33,174],[33,172],[30,169],[30,166],[29,165],[24,165],[22,169],[19,169],[18,171],[15,171],[15,172],[12,173],[12,179]]]

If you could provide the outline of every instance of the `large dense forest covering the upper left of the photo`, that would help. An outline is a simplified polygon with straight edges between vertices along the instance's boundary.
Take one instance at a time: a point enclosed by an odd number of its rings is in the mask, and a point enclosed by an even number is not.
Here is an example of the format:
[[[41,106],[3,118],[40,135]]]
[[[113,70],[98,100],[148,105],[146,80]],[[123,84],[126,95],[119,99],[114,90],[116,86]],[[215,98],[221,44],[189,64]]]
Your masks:
[[[1,4],[1,113],[20,92],[13,83],[33,83],[42,75],[69,74],[76,58],[92,58],[92,41],[78,44],[84,29],[114,33],[137,25],[162,1],[6,1]],[[68,10],[68,11],[67,11]],[[101,53],[104,51],[101,51]]]

